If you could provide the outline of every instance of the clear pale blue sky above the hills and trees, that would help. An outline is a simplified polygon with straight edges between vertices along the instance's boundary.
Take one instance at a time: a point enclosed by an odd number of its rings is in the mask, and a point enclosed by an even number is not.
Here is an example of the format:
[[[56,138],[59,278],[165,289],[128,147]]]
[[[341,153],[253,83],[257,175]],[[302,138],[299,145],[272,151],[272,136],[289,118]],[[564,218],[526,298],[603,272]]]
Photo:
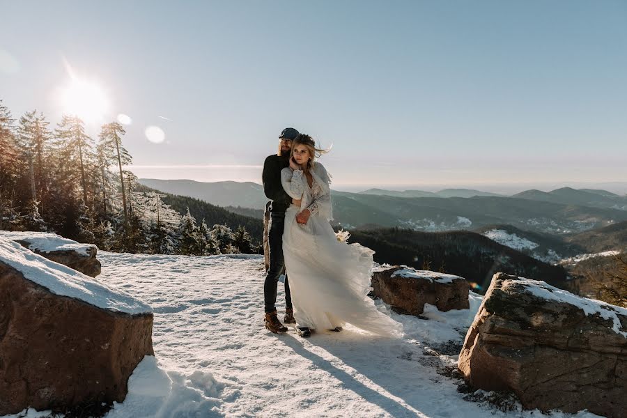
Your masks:
[[[1,10],[0,98],[14,116],[60,120],[65,60],[100,81],[107,119],[132,118],[125,141],[141,177],[259,181],[293,126],[333,144],[321,161],[338,186],[627,181],[626,1]],[[148,125],[166,141],[148,141]]]

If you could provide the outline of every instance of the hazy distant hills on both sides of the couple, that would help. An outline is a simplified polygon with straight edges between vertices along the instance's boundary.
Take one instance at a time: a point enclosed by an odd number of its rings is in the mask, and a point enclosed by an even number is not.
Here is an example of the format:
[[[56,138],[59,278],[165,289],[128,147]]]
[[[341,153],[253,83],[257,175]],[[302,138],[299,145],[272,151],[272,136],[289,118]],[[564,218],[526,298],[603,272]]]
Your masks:
[[[162,192],[191,196],[257,219],[261,219],[268,200],[256,183],[139,181]],[[435,193],[369,189],[360,193],[332,191],[332,196],[335,222],[346,229],[398,226],[415,231],[451,231],[509,224],[536,233],[572,234],[627,221],[627,197],[596,189],[527,190],[514,196],[473,189]]]

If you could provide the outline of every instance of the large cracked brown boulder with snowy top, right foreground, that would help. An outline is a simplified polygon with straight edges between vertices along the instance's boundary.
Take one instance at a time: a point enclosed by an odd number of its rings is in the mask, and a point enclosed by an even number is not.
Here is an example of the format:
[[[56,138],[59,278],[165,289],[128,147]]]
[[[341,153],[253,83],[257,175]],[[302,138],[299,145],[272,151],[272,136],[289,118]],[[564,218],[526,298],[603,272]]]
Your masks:
[[[627,417],[627,309],[497,273],[458,369],[474,389],[512,391],[524,408]]]

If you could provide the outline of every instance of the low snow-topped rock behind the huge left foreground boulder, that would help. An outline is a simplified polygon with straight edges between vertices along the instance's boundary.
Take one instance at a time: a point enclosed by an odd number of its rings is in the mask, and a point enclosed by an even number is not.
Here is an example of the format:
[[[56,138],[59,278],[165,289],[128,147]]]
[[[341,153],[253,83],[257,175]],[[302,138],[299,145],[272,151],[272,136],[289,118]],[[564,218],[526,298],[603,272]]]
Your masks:
[[[98,247],[93,244],[81,244],[48,232],[0,231],[0,237],[19,242],[48,260],[67,265],[88,276],[96,277],[100,274],[100,261],[96,258]]]

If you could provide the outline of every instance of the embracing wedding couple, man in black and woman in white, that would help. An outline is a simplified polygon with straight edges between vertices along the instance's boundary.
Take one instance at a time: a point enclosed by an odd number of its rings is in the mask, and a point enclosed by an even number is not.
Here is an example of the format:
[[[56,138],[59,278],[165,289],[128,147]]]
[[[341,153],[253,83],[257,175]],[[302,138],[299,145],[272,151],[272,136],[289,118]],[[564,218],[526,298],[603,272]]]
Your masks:
[[[288,330],[277,317],[277,284],[285,271],[284,323],[295,323],[300,336],[341,331],[349,323],[384,336],[398,336],[401,325],[382,314],[367,296],[374,252],[337,240],[332,217],[330,175],[316,161],[326,150],[288,127],[279,136],[279,152],[263,164],[263,189],[272,200],[265,277],[265,327]],[[288,279],[289,278],[289,279]]]

